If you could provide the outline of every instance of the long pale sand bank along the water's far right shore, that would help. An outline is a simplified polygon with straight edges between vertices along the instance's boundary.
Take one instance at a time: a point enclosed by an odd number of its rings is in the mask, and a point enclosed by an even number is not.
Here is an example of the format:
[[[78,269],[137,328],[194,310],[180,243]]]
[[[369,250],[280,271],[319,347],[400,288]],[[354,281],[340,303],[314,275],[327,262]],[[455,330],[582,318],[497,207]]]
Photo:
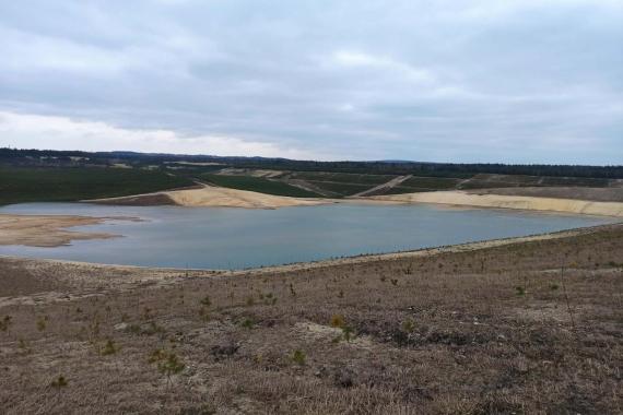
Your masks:
[[[623,203],[576,199],[536,198],[503,194],[472,194],[465,191],[436,191],[371,197],[378,201],[402,203],[439,203],[449,205],[551,211],[623,217]]]

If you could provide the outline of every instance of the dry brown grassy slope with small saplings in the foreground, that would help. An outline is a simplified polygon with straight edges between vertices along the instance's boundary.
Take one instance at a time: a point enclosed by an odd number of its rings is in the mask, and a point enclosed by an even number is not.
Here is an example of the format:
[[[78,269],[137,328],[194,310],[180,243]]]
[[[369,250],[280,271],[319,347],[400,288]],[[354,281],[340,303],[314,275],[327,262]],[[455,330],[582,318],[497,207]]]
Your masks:
[[[0,283],[1,413],[623,411],[623,225],[281,272],[0,259]]]

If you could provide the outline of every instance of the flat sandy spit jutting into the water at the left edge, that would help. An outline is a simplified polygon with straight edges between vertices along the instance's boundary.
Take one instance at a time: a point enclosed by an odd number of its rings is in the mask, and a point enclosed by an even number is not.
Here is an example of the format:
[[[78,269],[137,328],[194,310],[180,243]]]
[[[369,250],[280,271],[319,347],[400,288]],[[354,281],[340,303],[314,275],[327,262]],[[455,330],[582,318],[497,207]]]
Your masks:
[[[72,226],[97,225],[106,220],[109,217],[0,214],[0,245],[58,247],[69,245],[72,240],[118,237],[111,234],[67,230]]]

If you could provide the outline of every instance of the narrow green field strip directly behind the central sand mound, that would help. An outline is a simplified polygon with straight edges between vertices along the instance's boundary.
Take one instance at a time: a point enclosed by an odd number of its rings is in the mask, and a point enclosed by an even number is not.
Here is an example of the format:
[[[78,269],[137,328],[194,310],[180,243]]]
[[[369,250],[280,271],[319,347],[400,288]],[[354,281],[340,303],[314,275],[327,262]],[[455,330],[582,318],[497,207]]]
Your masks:
[[[295,198],[320,197],[317,193],[313,193],[310,191],[290,186],[281,181],[268,180],[261,177],[203,174],[200,176],[200,178],[213,185],[231,189],[249,190],[260,193],[289,195]]]

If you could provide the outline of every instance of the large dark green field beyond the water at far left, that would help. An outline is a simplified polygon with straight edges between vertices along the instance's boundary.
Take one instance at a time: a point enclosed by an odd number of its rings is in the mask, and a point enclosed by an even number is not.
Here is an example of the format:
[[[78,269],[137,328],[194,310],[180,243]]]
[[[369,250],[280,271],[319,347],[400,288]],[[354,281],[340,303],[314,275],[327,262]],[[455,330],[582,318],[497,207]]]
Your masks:
[[[115,198],[191,185],[190,179],[158,170],[0,167],[0,205]]]

